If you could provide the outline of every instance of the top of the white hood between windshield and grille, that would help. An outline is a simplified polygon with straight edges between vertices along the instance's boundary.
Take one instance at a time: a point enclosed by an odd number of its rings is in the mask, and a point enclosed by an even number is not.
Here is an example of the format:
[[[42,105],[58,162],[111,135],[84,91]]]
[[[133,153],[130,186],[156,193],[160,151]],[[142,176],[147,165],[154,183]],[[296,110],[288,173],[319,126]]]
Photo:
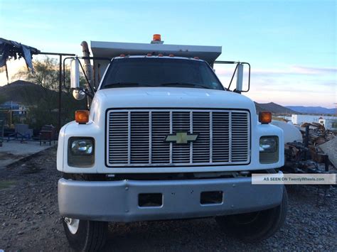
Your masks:
[[[92,106],[109,108],[254,109],[252,100],[233,92],[181,87],[125,87],[101,89]]]

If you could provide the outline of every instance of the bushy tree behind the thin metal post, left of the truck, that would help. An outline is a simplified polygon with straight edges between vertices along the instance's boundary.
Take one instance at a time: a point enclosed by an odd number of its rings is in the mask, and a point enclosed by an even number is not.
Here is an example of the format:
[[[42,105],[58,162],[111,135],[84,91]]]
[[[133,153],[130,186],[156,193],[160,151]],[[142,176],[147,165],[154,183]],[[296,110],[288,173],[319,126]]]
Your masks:
[[[21,70],[16,76],[37,84],[39,89],[25,89],[25,103],[28,106],[26,123],[36,130],[43,125],[58,125],[58,84],[59,68],[57,60],[45,57],[33,62],[34,72]],[[66,69],[66,83],[69,84],[70,71]],[[61,124],[73,121],[75,110],[85,109],[85,101],[76,101],[69,89],[62,87]]]

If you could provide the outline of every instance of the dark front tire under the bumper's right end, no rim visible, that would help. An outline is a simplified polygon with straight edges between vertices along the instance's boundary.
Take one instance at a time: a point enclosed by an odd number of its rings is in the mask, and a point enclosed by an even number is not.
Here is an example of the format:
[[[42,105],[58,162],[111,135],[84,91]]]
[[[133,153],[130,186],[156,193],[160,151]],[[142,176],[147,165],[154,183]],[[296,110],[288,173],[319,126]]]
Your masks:
[[[242,241],[257,242],[269,238],[282,227],[287,216],[287,207],[288,195],[284,187],[279,206],[260,212],[216,217],[216,221],[226,234]]]

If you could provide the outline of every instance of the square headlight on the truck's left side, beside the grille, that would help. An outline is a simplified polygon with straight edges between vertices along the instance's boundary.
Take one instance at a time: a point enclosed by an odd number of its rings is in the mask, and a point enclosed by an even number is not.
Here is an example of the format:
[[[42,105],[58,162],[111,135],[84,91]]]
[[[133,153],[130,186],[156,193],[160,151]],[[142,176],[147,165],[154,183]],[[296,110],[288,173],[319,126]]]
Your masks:
[[[68,141],[68,165],[90,168],[95,163],[95,139],[90,137],[71,137]]]

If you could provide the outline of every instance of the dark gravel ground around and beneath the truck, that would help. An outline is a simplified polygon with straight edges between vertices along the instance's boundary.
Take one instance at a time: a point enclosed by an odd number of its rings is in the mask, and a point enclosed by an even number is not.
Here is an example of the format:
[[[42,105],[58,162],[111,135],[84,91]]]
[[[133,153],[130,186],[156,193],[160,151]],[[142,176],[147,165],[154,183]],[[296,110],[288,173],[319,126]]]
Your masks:
[[[0,249],[70,251],[58,214],[55,151],[0,170]],[[110,224],[106,251],[337,251],[336,191],[317,205],[315,187],[289,190],[287,223],[261,243],[225,236],[214,219],[149,221]]]

